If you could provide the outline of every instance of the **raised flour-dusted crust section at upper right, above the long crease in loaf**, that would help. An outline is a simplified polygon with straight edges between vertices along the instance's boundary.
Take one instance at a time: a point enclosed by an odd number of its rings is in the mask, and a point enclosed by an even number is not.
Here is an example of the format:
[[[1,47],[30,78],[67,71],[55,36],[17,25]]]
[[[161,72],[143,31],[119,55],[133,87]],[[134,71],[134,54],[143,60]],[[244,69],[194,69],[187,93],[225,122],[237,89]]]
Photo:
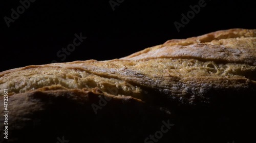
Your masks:
[[[136,52],[122,59],[200,59],[256,65],[256,30],[232,29],[187,39],[168,40],[162,45]]]

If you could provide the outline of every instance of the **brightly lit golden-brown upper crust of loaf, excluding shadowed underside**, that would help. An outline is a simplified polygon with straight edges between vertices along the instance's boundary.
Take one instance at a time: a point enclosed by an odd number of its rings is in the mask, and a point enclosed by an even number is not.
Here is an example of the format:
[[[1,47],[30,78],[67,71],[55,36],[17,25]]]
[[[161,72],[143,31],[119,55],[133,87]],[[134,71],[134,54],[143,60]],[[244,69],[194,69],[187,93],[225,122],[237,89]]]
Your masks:
[[[59,85],[67,89],[98,87],[117,95],[147,99],[148,90],[171,97],[188,97],[193,102],[208,89],[201,84],[225,89],[255,87],[256,30],[218,31],[183,40],[170,40],[125,58],[111,61],[76,61],[27,66],[0,73],[1,90],[10,95]],[[196,79],[200,80],[199,82]],[[219,80],[229,83],[219,84]],[[205,82],[207,81],[207,82]],[[231,84],[230,84],[231,83]],[[239,85],[239,86],[238,86]],[[178,87],[178,88],[177,88]],[[198,90],[199,90],[198,89]]]

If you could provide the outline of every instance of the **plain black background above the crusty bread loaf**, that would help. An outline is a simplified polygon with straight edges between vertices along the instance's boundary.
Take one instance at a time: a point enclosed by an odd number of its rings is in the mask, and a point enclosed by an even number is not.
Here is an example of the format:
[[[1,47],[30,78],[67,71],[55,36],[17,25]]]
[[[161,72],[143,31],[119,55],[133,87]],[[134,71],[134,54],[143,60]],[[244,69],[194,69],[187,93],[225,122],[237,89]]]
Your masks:
[[[116,0],[113,0],[116,2]],[[1,1],[1,69],[121,58],[169,39],[199,36],[229,28],[255,28],[255,4],[246,1],[209,1],[177,31],[174,21],[197,1],[128,1],[112,10],[107,1],[40,1],[31,3],[7,26],[19,1]],[[63,61],[56,53],[73,42],[74,34],[87,37]]]

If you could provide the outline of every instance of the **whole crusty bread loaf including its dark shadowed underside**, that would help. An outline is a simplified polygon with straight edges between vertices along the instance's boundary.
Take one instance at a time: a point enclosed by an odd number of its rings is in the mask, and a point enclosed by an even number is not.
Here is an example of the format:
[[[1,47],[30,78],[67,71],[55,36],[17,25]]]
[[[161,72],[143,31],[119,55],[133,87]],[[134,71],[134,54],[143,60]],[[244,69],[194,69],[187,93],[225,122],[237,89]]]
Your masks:
[[[242,121],[255,126],[256,30],[169,40],[110,61],[11,69],[0,73],[1,104],[4,89],[12,142],[146,142],[164,120],[175,126],[159,142],[239,140],[252,135],[239,130],[248,129]],[[95,112],[100,97],[111,100]]]

